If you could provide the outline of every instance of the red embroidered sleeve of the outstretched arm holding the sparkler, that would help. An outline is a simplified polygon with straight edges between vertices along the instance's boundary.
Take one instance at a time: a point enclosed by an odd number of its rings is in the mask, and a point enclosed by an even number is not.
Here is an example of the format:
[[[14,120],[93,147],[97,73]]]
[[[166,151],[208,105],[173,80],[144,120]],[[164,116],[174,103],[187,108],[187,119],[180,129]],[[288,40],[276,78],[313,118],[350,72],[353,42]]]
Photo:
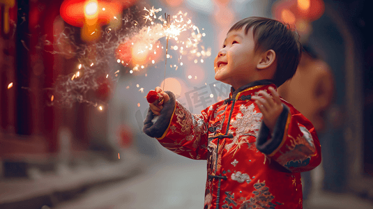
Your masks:
[[[207,109],[201,114],[191,114],[174,96],[166,91],[170,100],[163,105],[160,116],[149,109],[143,132],[155,137],[160,144],[178,155],[196,160],[206,160],[208,123]]]

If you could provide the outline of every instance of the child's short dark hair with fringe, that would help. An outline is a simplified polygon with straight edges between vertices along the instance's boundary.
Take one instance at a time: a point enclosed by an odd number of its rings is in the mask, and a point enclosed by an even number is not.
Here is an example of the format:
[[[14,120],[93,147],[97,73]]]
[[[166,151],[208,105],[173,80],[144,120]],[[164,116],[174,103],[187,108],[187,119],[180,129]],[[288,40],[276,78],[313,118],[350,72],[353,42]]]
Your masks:
[[[248,17],[236,22],[230,31],[245,27],[245,34],[250,28],[253,31],[255,52],[258,49],[265,52],[273,49],[276,53],[277,68],[273,80],[275,85],[281,86],[296,73],[300,61],[302,45],[298,33],[290,29],[289,24],[266,17]]]

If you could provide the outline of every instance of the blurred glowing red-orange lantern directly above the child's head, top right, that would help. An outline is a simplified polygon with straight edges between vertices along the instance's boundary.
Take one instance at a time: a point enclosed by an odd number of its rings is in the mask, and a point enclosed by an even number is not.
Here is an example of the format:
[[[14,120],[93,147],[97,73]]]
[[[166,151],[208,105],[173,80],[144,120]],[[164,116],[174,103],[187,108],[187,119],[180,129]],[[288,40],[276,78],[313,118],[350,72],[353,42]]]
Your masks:
[[[323,3],[323,0],[283,0],[278,1],[273,6],[273,15],[275,16],[275,18],[284,22],[286,22],[285,20],[287,20],[287,17],[292,20],[292,17],[289,16],[291,15],[291,13],[296,19],[295,22],[300,19],[312,22],[319,19],[321,15],[323,15],[324,11],[325,5]],[[284,15],[284,13],[286,13],[287,15]]]

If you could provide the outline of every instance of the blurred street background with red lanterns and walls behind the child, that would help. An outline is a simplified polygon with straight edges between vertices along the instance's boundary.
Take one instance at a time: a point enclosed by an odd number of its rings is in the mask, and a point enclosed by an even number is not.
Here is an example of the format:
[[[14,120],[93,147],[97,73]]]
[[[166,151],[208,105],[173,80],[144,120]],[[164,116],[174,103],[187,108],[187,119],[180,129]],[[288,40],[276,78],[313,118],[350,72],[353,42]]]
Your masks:
[[[302,173],[303,208],[373,208],[372,6],[0,0],[0,209],[202,208],[206,161],[142,132],[144,97],[165,85],[195,114],[227,98],[213,60],[250,16],[288,23],[304,47],[278,88],[321,143],[321,165]],[[180,33],[168,41],[165,13]]]

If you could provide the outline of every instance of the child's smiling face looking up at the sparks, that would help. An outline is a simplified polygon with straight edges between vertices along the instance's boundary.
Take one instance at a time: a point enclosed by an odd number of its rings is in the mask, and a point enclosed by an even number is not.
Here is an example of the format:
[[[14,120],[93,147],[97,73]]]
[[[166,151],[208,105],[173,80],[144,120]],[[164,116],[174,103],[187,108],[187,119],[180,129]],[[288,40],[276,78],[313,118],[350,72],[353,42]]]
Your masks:
[[[215,79],[230,84],[235,89],[254,82],[259,53],[254,52],[252,29],[231,31],[214,61]]]

